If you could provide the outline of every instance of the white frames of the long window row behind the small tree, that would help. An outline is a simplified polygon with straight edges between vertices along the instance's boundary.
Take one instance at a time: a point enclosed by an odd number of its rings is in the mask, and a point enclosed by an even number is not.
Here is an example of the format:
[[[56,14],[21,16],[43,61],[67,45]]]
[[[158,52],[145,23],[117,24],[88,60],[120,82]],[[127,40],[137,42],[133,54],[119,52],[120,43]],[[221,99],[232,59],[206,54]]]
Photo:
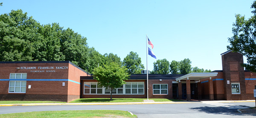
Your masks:
[[[89,88],[85,88],[85,83],[90,83],[90,87]],[[110,95],[110,93],[105,93],[105,90],[106,90],[106,88],[105,87],[102,87],[102,93],[99,93],[98,94],[98,92],[97,92],[97,90],[98,90],[98,87],[96,86],[96,93],[91,93],[91,83],[96,83],[96,85],[98,85],[98,82],[87,82],[87,81],[84,81],[84,87],[83,87],[83,89],[84,89],[84,92],[83,92],[83,94],[84,95]],[[112,95],[144,95],[145,94],[145,85],[144,85],[144,82],[126,82],[126,83],[137,83],[137,88],[134,88],[134,89],[137,89],[137,93],[129,93],[129,94],[126,94],[126,92],[125,92],[125,89],[126,89],[126,87],[125,87],[125,84],[123,84],[122,85],[122,87],[120,87],[120,88],[116,88],[116,93],[112,93]],[[138,84],[139,83],[142,83],[143,84],[143,88],[139,88],[138,87]],[[86,84],[87,85],[87,84]],[[89,89],[89,93],[85,93],[85,89]],[[118,93],[118,90],[119,89],[122,89],[122,93]],[[132,90],[132,87],[130,88],[131,90]],[[138,93],[139,92],[139,89],[143,89],[143,93]],[[132,91],[131,91],[132,92]]]

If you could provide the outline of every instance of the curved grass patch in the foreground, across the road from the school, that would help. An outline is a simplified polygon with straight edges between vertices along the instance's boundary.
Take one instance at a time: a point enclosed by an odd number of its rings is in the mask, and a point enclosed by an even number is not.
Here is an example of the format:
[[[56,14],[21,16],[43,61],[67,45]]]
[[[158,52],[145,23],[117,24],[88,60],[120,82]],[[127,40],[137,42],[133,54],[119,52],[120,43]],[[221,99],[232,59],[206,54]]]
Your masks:
[[[1,114],[0,118],[99,118],[99,117],[137,118],[127,111],[120,110],[76,110],[76,111],[44,111]]]

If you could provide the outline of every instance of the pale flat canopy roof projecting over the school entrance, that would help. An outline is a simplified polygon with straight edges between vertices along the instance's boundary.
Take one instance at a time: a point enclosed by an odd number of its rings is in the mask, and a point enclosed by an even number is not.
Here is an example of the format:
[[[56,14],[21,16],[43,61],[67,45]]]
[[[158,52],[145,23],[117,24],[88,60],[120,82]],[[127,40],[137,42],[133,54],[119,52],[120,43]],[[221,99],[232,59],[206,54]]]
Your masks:
[[[200,79],[213,77],[213,76],[217,76],[217,75],[218,75],[218,73],[189,73],[189,74],[186,74],[184,76],[177,78],[176,81],[187,80],[187,79],[200,80]]]

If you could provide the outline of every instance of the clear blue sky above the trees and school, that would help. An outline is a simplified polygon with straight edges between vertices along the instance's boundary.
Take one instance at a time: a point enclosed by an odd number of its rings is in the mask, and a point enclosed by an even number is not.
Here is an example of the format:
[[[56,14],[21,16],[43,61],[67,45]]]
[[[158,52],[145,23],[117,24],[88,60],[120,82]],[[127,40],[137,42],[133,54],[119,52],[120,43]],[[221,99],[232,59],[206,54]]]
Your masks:
[[[189,58],[192,67],[222,70],[235,14],[252,16],[253,0],[0,0],[0,14],[22,9],[41,25],[57,22],[121,60],[137,52],[146,67],[146,34],[157,59]],[[246,60],[244,60],[246,62]],[[156,59],[148,56],[148,70]]]

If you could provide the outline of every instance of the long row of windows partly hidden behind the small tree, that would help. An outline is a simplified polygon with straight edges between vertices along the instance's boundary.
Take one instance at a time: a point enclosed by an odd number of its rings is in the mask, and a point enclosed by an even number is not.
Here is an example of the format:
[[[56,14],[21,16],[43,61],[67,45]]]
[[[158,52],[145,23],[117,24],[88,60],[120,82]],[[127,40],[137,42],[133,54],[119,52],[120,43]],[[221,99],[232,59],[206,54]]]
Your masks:
[[[110,89],[99,86],[97,82],[84,82],[84,94],[110,94]],[[144,82],[126,82],[113,89],[112,94],[144,94]]]

